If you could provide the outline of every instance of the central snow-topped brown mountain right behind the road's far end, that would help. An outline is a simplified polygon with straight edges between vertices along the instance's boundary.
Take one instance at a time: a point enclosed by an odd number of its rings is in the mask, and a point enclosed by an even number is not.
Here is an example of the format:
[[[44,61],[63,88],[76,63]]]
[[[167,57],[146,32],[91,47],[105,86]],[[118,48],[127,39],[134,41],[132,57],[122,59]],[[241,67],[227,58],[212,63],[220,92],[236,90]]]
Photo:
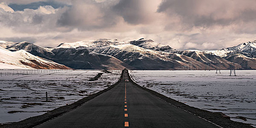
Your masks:
[[[187,56],[176,53],[160,52],[141,48],[132,44],[110,45],[102,48],[91,48],[94,52],[114,56],[138,69],[142,70],[174,70],[189,67],[195,64],[194,68],[205,65]]]

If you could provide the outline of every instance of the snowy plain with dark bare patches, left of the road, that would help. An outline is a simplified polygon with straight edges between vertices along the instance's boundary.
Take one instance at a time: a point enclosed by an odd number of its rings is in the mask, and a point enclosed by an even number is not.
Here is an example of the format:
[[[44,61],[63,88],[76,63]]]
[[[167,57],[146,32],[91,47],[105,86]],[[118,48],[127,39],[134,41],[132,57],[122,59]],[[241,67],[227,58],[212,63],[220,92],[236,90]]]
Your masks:
[[[98,80],[88,81],[100,72],[0,70],[0,123],[24,120],[73,103],[106,89],[116,83],[121,75],[121,71],[111,71],[110,74],[102,74]]]

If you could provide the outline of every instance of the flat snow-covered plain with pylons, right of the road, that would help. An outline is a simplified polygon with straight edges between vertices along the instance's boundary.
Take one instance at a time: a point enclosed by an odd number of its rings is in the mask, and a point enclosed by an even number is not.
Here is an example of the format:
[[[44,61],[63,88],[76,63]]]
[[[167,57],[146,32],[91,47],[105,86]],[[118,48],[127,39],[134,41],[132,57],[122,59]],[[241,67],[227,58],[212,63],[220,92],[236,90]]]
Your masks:
[[[256,126],[256,71],[129,71],[139,85],[196,108]],[[245,117],[246,121],[238,118]]]

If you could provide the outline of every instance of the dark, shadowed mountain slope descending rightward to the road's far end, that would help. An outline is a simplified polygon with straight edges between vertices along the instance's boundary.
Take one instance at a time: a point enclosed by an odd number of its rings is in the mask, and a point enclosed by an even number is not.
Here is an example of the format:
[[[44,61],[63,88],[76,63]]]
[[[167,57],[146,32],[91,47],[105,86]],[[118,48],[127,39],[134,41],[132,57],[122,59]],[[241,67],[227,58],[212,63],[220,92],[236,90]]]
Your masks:
[[[135,69],[112,56],[98,54],[87,48],[56,48],[53,61],[75,69]]]

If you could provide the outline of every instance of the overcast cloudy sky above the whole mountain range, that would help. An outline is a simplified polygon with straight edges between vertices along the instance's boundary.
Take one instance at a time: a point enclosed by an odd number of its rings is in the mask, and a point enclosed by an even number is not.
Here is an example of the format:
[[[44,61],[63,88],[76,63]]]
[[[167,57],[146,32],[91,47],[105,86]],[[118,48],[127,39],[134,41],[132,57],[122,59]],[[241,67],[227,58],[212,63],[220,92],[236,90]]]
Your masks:
[[[256,0],[0,0],[0,40],[55,47],[99,38],[174,49],[256,40]]]

